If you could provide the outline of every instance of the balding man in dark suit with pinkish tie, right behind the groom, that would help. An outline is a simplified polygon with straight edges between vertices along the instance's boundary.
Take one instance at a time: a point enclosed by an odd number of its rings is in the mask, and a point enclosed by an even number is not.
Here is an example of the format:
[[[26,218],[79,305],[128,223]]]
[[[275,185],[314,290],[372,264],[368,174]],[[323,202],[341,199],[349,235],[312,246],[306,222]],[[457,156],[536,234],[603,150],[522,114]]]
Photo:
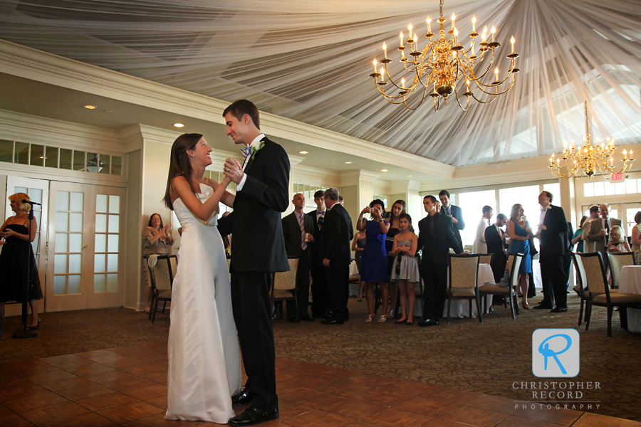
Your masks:
[[[303,214],[305,196],[294,194],[291,201],[294,211],[283,218],[283,238],[288,258],[298,258],[296,270],[296,295],[298,295],[298,313],[301,320],[313,322],[314,318],[307,312],[309,305],[309,266],[311,264],[311,246],[314,238],[314,221],[309,215]],[[296,307],[291,301],[287,302],[287,320],[296,320]]]

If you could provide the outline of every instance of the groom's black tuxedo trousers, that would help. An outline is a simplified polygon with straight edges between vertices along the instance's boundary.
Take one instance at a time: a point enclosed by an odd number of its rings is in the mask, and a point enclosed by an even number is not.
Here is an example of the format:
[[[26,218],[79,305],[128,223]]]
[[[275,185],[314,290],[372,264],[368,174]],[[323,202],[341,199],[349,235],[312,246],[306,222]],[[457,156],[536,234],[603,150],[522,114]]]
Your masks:
[[[272,274],[231,270],[231,305],[247,375],[245,387],[256,394],[251,406],[261,411],[278,409],[276,352],[269,300]]]

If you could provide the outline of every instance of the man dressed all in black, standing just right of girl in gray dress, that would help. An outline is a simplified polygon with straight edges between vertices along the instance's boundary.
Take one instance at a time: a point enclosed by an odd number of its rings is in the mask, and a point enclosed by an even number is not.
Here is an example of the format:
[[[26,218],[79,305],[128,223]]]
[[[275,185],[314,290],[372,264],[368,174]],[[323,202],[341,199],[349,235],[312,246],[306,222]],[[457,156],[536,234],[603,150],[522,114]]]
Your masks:
[[[419,326],[439,325],[447,296],[447,254],[449,248],[462,253],[463,248],[454,235],[452,218],[437,214],[437,199],[434,196],[423,198],[427,216],[419,221],[417,249],[423,249],[420,273],[425,285],[423,320]]]

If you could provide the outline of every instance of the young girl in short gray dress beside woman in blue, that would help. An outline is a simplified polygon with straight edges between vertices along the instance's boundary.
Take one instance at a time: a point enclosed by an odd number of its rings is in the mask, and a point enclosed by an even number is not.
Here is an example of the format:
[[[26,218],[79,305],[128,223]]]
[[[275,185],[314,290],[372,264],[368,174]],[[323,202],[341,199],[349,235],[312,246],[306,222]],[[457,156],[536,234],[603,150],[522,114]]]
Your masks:
[[[398,284],[402,315],[395,323],[414,325],[414,285],[420,280],[418,262],[415,258],[418,237],[410,231],[412,217],[409,214],[401,214],[398,223],[400,233],[394,236],[392,246],[392,254],[396,257],[392,266],[392,280]]]

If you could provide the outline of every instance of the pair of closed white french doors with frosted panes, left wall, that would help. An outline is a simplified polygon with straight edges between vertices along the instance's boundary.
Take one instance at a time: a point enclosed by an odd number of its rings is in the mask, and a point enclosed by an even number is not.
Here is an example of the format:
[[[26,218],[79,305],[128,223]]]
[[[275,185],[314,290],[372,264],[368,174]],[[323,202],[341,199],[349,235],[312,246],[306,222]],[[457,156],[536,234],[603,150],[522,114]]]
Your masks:
[[[124,196],[118,187],[51,181],[48,312],[123,305]]]

